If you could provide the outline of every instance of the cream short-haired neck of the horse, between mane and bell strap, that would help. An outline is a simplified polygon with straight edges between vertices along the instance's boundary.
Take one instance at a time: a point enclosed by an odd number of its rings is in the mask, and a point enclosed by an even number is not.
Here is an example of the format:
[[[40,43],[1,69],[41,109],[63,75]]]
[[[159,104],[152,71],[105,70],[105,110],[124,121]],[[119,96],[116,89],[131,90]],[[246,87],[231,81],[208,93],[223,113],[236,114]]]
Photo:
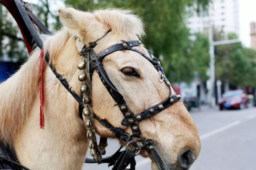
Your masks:
[[[79,92],[82,83],[79,82],[78,75],[82,71],[78,70],[77,64],[82,57],[77,55],[75,48],[74,39],[70,38],[55,56],[50,53],[50,57],[56,70],[66,78],[70,87]],[[26,122],[14,139],[18,160],[31,169],[81,169],[87,140],[85,125],[78,115],[78,102],[62,86],[49,66],[46,66],[45,129],[42,130],[39,126],[38,81],[36,83],[37,88],[34,90],[35,95],[30,103]]]

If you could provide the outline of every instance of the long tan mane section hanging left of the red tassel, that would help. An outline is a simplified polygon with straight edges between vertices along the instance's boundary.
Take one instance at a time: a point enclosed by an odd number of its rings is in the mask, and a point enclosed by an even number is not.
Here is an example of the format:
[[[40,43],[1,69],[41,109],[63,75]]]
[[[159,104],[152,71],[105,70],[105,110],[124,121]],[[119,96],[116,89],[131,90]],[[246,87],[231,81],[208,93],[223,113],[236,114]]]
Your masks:
[[[0,84],[0,140],[11,143],[24,124],[38,92],[40,51],[35,51],[20,70]]]

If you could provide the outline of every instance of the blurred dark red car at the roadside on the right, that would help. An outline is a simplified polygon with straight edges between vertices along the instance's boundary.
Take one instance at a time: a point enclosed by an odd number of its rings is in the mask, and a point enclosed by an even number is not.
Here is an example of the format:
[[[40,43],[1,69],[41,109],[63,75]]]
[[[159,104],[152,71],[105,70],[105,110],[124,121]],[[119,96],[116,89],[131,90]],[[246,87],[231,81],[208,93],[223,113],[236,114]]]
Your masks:
[[[243,109],[248,107],[249,99],[243,90],[231,90],[222,95],[219,101],[220,110],[227,108]]]

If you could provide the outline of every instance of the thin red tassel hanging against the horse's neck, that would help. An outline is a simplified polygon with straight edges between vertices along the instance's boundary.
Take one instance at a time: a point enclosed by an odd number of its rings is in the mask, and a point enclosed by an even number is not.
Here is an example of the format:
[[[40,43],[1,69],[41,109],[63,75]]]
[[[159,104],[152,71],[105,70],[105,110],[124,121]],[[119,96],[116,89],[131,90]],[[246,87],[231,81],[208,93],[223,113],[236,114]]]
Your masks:
[[[40,53],[40,128],[44,129],[44,48]]]

